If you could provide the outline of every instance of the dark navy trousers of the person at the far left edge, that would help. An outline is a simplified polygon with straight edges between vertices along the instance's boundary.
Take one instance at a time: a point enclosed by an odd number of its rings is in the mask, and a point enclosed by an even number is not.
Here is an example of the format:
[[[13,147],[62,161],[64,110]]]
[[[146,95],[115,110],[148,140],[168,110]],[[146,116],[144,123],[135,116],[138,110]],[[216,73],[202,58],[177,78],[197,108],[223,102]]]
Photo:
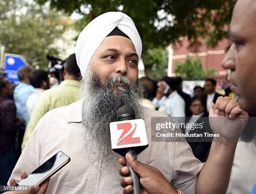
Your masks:
[[[11,148],[7,153],[0,155],[0,185],[7,185],[16,164],[16,152]]]

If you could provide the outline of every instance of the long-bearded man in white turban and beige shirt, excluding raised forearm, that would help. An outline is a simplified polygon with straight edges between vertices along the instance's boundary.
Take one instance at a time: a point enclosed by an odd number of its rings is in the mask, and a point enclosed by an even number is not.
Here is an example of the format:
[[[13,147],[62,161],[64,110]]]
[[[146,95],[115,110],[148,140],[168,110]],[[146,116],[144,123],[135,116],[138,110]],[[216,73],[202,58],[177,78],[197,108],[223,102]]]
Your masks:
[[[203,164],[187,142],[182,138],[150,141],[151,117],[166,115],[141,106],[141,50],[136,26],[124,13],[102,14],[82,30],[76,58],[82,73],[83,98],[41,118],[13,170],[11,177],[15,180],[11,182],[20,180],[22,170],[30,173],[61,150],[71,161],[51,177],[46,193],[120,194],[119,156],[111,149],[109,123],[116,120],[120,107],[128,105],[136,118],[145,120],[148,135],[148,148],[138,160],[159,169],[172,184],[168,186],[170,192],[179,189],[184,194],[195,193]]]

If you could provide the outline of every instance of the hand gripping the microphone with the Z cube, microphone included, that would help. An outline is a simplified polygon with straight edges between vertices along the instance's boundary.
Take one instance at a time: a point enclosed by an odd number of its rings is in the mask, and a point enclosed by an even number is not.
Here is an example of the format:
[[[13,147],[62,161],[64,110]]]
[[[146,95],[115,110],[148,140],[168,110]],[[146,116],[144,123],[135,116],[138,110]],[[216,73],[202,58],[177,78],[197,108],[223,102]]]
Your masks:
[[[135,119],[133,109],[123,106],[118,110],[117,122],[110,123],[110,134],[112,150],[126,158],[119,159],[125,166],[119,168],[123,194],[177,194],[159,170],[137,161],[148,140],[144,120]]]

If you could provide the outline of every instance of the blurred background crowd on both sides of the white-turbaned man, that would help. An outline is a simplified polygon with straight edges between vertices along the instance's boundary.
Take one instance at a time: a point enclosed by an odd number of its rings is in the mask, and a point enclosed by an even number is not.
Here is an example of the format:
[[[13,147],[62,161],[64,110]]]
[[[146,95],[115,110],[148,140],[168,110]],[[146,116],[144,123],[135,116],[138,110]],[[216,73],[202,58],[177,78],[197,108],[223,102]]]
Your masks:
[[[12,88],[7,78],[1,76],[1,124],[3,126],[3,155],[6,159],[1,169],[6,175],[1,175],[1,183],[7,184],[15,166],[21,149],[23,150],[38,121],[50,110],[67,106],[80,98],[80,70],[77,66],[75,54],[70,55],[64,64],[63,78],[58,87],[51,87],[49,72],[35,70],[30,66],[18,69],[20,83]],[[180,77],[164,77],[154,81],[148,77],[140,78],[143,84],[144,99],[142,105],[160,111],[171,117],[180,117],[185,123],[197,122],[200,117],[207,117],[206,101],[216,102],[221,96],[215,92],[216,81],[211,78],[205,80],[205,87],[195,86],[194,95],[189,96],[182,91]],[[212,97],[211,97],[212,96]],[[192,97],[192,98],[191,98]],[[12,105],[10,105],[12,103]],[[186,118],[187,117],[187,118]],[[12,124],[8,125],[6,123]],[[189,133],[189,131],[183,131]],[[24,135],[25,134],[25,135]],[[8,138],[4,138],[8,137]],[[17,140],[15,142],[15,138]],[[189,144],[192,144],[189,142]],[[194,155],[205,162],[210,143],[203,146],[192,146]],[[16,148],[16,150],[15,150]],[[200,151],[197,151],[200,150]],[[202,151],[204,150],[204,151]]]

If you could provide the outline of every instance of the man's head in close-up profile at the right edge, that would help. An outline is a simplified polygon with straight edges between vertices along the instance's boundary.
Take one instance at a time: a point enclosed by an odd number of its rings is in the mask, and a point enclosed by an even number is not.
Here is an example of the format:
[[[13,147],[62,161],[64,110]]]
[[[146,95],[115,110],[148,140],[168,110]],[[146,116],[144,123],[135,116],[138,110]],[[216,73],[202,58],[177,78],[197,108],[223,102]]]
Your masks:
[[[256,1],[238,0],[233,10],[228,35],[233,45],[222,66],[230,69],[230,89],[238,95],[239,105],[256,113]]]

